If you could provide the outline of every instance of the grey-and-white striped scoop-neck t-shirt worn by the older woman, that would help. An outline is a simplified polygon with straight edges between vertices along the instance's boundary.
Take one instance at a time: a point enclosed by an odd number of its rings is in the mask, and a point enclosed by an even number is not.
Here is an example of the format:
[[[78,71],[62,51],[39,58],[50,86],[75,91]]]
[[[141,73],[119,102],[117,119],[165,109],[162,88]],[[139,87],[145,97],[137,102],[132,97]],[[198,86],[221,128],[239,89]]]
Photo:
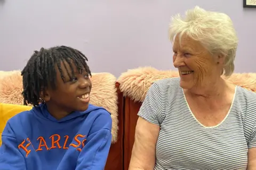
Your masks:
[[[155,170],[246,169],[256,147],[256,93],[236,86],[226,118],[204,127],[191,113],[180,78],[155,82],[138,115],[159,125]]]

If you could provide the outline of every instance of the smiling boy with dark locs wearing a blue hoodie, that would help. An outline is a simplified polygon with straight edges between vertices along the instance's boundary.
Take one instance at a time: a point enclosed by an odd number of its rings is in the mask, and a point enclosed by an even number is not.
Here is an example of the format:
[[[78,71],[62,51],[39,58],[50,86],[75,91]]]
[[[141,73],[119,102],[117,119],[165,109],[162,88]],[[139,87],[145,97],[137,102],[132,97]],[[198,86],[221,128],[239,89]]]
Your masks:
[[[41,48],[22,70],[24,104],[2,134],[0,169],[101,170],[111,144],[107,110],[89,104],[87,58],[67,46]]]

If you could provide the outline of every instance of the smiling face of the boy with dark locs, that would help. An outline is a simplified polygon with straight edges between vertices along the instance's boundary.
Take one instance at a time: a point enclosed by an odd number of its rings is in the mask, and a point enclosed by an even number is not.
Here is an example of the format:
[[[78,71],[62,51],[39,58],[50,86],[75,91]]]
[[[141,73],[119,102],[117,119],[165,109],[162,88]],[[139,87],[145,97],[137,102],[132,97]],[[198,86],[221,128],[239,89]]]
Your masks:
[[[66,65],[66,68],[64,64]],[[90,92],[92,83],[90,75],[83,70],[82,74],[76,69],[75,64],[74,77],[69,64],[66,61],[61,62],[61,70],[64,76],[64,82],[61,78],[60,71],[56,67],[56,88],[53,90],[48,88],[44,94],[44,101],[47,104],[49,112],[57,117],[65,117],[73,111],[84,111],[89,106]],[[71,78],[68,75],[70,73]],[[61,116],[62,115],[62,116]]]

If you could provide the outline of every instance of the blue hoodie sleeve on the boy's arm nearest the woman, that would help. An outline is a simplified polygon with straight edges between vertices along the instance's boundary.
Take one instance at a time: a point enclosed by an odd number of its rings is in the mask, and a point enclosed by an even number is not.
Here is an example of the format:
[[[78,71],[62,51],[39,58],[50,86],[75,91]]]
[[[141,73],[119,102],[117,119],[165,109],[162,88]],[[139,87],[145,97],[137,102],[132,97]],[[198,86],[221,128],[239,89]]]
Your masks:
[[[100,114],[92,125],[84,148],[77,159],[76,170],[103,170],[111,145],[112,119],[107,111]]]

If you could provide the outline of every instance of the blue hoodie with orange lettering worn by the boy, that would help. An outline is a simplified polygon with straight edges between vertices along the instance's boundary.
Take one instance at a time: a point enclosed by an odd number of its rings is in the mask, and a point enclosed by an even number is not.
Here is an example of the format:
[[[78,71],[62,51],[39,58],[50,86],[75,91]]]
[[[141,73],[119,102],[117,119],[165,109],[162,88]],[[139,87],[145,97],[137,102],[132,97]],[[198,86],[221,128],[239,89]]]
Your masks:
[[[103,170],[111,144],[109,112],[89,105],[60,120],[46,104],[12,117],[2,134],[0,169]]]

